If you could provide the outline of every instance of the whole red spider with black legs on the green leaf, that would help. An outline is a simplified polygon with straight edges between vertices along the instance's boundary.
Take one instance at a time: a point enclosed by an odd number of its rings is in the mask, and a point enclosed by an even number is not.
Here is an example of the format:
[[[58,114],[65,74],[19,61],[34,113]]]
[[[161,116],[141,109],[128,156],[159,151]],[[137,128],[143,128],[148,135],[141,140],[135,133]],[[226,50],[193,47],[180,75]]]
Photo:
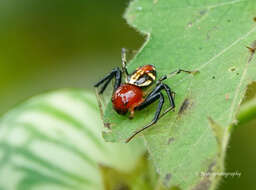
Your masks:
[[[122,48],[122,68],[114,68],[109,74],[107,74],[104,78],[97,82],[94,87],[98,88],[100,85],[103,85],[101,89],[97,91],[98,94],[103,94],[110,81],[114,78],[115,82],[112,94],[113,108],[118,114],[121,115],[125,115],[127,112],[130,112],[130,118],[133,118],[135,110],[142,110],[154,103],[155,101],[159,100],[153,120],[143,128],[135,131],[125,141],[126,143],[128,143],[137,134],[157,123],[161,116],[163,116],[170,110],[174,110],[175,93],[167,84],[163,83],[163,81],[181,72],[194,74],[195,71],[178,69],[177,71],[166,74],[162,76],[159,80],[157,80],[155,88],[151,90],[150,93],[146,94],[145,89],[151,86],[156,81],[156,68],[153,65],[144,65],[138,67],[135,71],[129,74],[127,70],[126,52],[127,50]],[[123,77],[125,78],[124,83],[122,83]],[[170,107],[166,111],[164,111],[162,115],[160,115],[164,104],[164,96],[162,90],[164,90],[167,94]]]

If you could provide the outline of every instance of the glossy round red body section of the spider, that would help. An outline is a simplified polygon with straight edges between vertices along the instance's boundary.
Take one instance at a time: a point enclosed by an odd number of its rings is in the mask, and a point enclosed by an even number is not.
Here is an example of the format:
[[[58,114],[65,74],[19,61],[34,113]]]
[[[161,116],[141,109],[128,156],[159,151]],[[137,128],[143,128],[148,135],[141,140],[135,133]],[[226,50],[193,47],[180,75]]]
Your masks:
[[[128,110],[133,112],[141,102],[143,102],[142,90],[131,84],[122,84],[112,96],[113,107],[119,114],[125,114]]]

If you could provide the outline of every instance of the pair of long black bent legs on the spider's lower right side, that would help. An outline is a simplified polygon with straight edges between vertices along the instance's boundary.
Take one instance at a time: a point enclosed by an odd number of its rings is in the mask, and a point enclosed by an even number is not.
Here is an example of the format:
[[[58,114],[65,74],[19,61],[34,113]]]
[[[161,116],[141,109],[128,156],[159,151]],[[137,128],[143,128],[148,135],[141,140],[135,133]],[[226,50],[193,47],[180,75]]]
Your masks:
[[[132,138],[135,137],[138,133],[151,127],[158,121],[158,119],[160,118],[160,113],[161,113],[163,104],[164,104],[164,96],[161,92],[161,90],[163,90],[163,89],[166,91],[168,100],[170,101],[170,108],[167,111],[165,111],[164,114],[167,113],[168,111],[170,111],[171,109],[175,108],[174,98],[172,95],[173,93],[172,93],[170,87],[164,83],[159,83],[156,86],[156,88],[146,97],[145,101],[142,102],[139,106],[135,107],[135,110],[142,110],[142,109],[146,108],[147,106],[151,105],[156,100],[159,100],[158,107],[155,112],[155,116],[154,116],[153,120],[148,125],[144,126],[142,129],[135,131],[135,133],[126,140],[126,143],[128,143],[130,140],[132,140]]]

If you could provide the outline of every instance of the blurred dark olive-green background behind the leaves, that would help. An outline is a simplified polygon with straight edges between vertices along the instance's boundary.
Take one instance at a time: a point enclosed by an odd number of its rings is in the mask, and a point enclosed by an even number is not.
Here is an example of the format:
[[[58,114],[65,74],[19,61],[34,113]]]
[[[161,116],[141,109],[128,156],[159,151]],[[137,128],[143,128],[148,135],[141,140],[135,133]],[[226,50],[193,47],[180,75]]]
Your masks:
[[[122,15],[128,0],[1,0],[0,113],[22,100],[58,88],[87,88],[120,65],[122,47],[138,49],[144,37]],[[224,189],[255,189],[256,121],[234,130]]]

